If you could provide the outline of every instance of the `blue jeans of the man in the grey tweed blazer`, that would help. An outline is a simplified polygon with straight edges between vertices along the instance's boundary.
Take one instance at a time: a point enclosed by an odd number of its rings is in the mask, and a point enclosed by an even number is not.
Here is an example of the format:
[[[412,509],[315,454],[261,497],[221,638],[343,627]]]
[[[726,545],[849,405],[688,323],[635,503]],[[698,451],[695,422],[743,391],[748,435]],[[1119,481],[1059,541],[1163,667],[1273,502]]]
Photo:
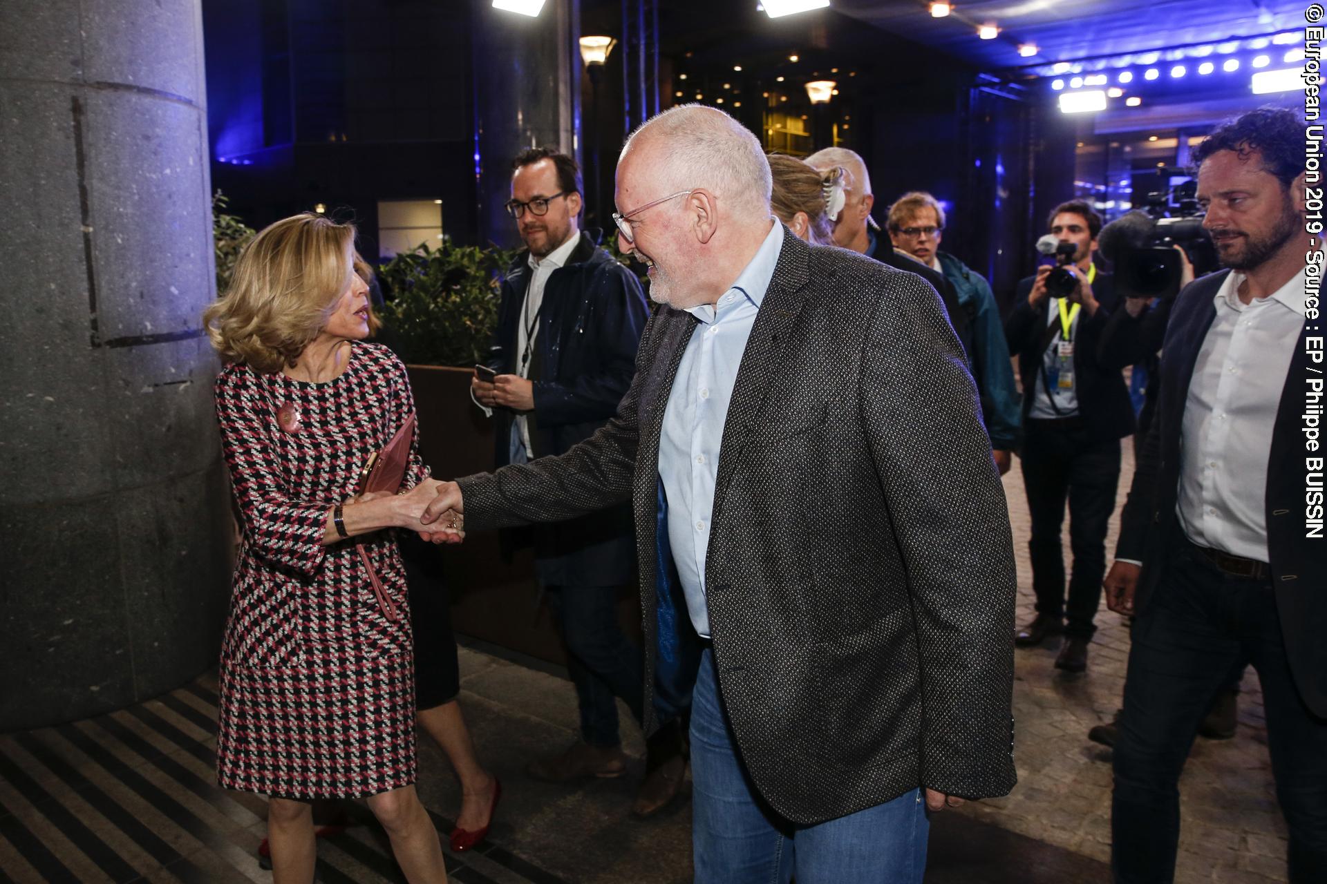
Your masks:
[[[695,884],[920,883],[930,823],[921,790],[816,826],[780,819],[733,742],[706,648],[691,705]]]

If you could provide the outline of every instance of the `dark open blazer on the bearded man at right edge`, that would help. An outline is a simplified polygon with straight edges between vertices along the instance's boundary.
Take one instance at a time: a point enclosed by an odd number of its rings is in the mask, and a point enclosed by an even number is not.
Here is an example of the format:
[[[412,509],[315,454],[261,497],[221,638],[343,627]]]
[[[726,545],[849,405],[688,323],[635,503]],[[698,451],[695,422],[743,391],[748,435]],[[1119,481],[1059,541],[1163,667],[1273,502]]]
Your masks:
[[[1157,415],[1139,452],[1133,485],[1120,516],[1116,558],[1143,562],[1135,608],[1141,612],[1161,582],[1169,557],[1182,546],[1184,529],[1176,516],[1180,496],[1180,445],[1189,382],[1208,330],[1217,315],[1213,298],[1230,270],[1210,273],[1180,293],[1161,350],[1161,392]],[[1304,705],[1327,717],[1327,541],[1306,538],[1306,452],[1300,433],[1306,380],[1320,378],[1311,366],[1307,326],[1290,362],[1271,431],[1267,457],[1267,553],[1286,656]],[[1319,455],[1322,452],[1318,452]],[[1238,469],[1238,464],[1225,464]],[[1318,504],[1322,504],[1319,498]],[[1319,510],[1320,517],[1320,510]]]

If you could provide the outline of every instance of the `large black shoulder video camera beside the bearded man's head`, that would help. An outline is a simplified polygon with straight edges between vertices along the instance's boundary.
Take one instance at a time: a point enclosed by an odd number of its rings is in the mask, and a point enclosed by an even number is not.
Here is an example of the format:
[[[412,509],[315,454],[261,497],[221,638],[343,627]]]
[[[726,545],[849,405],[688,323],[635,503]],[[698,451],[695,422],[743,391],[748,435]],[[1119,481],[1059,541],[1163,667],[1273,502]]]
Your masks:
[[[1149,192],[1144,208],[1101,228],[1101,256],[1115,268],[1115,290],[1125,298],[1173,298],[1180,293],[1178,245],[1193,264],[1194,278],[1217,269],[1212,237],[1202,227],[1197,182]]]

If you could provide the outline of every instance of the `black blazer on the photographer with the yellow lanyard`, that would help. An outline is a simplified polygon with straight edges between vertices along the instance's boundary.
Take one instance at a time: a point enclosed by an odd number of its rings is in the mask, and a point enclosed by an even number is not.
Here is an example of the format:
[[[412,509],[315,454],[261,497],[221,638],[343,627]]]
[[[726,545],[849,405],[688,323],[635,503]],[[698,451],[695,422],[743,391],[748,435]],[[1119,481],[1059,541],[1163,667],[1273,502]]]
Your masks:
[[[1042,357],[1046,354],[1046,323],[1051,311],[1051,298],[1046,298],[1035,310],[1028,305],[1027,296],[1032,290],[1035,276],[1019,280],[1014,292],[1014,309],[1005,321],[1005,339],[1009,351],[1018,355],[1018,375],[1023,382],[1023,428],[1027,432],[1027,415],[1032,410],[1036,388],[1042,386]],[[1101,333],[1119,306],[1115,294],[1115,281],[1108,273],[1097,270],[1092,282],[1092,294],[1100,305],[1093,315],[1079,315],[1076,341],[1074,342],[1074,376],[1079,402],[1079,415],[1088,429],[1101,439],[1121,439],[1133,432],[1133,403],[1129,388],[1124,386],[1120,368],[1100,359],[1097,353]]]

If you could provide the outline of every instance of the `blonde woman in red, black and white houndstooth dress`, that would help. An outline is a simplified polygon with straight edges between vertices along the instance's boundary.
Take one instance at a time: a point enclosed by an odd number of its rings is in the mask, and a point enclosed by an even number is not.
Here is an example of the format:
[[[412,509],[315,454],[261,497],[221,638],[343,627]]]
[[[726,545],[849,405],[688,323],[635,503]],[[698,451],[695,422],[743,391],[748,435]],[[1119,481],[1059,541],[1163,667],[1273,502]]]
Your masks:
[[[406,877],[443,881],[438,834],[414,791],[410,612],[385,530],[425,531],[438,482],[415,433],[402,493],[350,500],[369,455],[414,412],[405,366],[362,342],[368,286],[352,272],[353,240],[352,227],[318,215],[277,221],[206,314],[228,362],[216,416],[243,535],[216,773],[227,789],[269,797],[277,881],[313,880],[316,798],[368,798]]]

